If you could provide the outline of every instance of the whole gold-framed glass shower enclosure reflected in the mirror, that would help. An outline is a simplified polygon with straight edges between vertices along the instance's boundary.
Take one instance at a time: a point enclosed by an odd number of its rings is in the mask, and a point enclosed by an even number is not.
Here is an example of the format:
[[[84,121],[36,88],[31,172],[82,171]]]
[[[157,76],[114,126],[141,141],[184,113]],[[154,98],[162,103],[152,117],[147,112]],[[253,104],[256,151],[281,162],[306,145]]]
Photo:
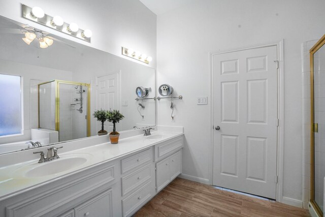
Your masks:
[[[58,131],[59,142],[90,136],[90,85],[52,80],[38,84],[39,128]]]

